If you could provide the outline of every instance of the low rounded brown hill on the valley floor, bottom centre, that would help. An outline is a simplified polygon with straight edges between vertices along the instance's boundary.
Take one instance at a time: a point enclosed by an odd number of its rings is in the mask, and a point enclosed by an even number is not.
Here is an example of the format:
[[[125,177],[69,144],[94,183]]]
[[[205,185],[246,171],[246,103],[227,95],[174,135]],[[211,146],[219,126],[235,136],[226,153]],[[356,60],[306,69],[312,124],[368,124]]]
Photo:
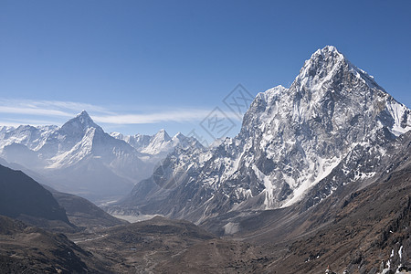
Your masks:
[[[116,273],[249,273],[268,264],[264,249],[163,217],[86,238],[79,246],[104,258]]]

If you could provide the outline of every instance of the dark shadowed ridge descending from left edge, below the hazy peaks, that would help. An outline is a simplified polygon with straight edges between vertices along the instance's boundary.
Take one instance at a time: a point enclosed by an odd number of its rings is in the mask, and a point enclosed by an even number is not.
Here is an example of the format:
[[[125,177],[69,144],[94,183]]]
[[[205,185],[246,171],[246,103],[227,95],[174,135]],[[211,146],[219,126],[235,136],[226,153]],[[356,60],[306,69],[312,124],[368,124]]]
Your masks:
[[[0,215],[54,232],[94,231],[124,225],[90,201],[38,184],[0,164]]]

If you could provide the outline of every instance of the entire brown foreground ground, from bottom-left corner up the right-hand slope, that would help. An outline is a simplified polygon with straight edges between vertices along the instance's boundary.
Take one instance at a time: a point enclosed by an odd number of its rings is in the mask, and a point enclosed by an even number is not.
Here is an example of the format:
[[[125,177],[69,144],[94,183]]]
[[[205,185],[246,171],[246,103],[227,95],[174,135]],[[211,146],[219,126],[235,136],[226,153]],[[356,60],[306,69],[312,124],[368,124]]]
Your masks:
[[[382,269],[387,270],[388,265],[393,270],[404,269],[411,259],[411,132],[381,143],[379,149],[389,153],[381,157],[373,177],[342,184],[315,205],[302,199],[250,216],[217,216],[220,225],[231,224],[222,231],[232,234],[226,238],[215,237],[186,221],[156,217],[71,234],[74,245],[50,233],[38,241],[38,235],[45,232],[2,221],[0,269],[12,273],[30,271],[32,266],[34,272],[52,272],[52,267],[115,273],[323,273],[330,266],[337,273],[345,269],[350,273],[378,273],[382,261]],[[367,153],[372,151],[362,151],[363,158],[371,157]],[[369,164],[372,162],[364,161],[360,168],[366,170]],[[350,177],[347,173],[347,182]],[[311,191],[315,192],[315,187]],[[203,227],[216,226],[216,219],[207,219]],[[21,229],[24,233],[10,232]],[[13,235],[8,236],[10,233]],[[28,241],[30,248],[25,246],[27,237],[33,239]],[[53,248],[54,241],[59,242],[58,248]],[[68,254],[74,255],[71,258]]]

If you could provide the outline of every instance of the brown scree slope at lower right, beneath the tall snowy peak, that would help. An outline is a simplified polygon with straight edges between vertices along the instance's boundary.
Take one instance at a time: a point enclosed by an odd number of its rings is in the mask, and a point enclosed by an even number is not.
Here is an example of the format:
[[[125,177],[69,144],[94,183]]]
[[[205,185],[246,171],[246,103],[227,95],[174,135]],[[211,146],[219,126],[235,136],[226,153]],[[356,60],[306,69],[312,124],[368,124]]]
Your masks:
[[[309,210],[304,211],[301,202],[288,212],[250,217],[239,225],[247,232],[237,237],[289,243],[283,257],[273,262],[280,273],[321,273],[328,265],[337,273],[409,269],[411,132],[398,139],[385,146],[393,150],[384,159],[388,172],[364,180],[356,189],[346,184]]]

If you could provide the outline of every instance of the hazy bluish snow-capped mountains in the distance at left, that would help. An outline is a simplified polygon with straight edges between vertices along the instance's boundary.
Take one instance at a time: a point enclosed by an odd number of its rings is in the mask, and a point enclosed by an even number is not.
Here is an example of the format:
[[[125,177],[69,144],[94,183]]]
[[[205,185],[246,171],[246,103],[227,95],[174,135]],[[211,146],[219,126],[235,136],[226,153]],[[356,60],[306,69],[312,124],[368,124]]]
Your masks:
[[[63,126],[0,127],[0,157],[43,184],[94,201],[126,195],[177,145],[194,142],[164,130],[153,136],[108,134],[86,111]],[[201,144],[198,143],[201,146]]]

